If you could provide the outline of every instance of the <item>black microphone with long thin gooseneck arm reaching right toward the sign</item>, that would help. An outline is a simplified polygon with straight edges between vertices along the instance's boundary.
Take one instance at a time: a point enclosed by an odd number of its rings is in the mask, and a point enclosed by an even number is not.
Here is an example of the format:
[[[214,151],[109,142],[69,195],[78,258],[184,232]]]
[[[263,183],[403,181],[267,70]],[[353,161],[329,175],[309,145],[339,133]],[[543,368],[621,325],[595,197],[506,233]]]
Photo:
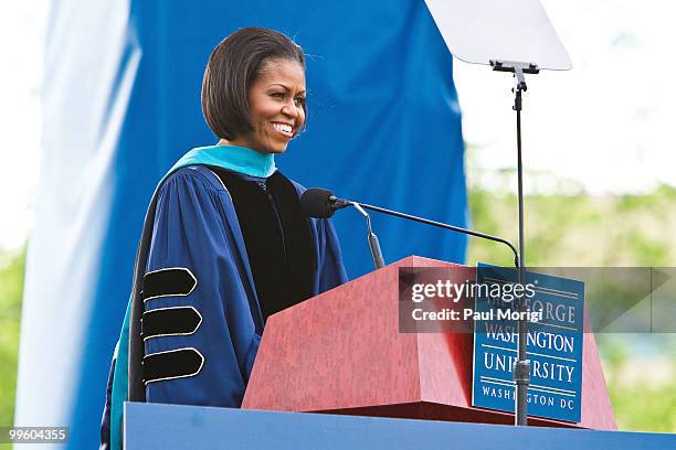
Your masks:
[[[479,237],[482,239],[488,239],[488,240],[493,240],[496,243],[500,243],[509,247],[509,249],[514,254],[514,265],[517,268],[519,268],[519,254],[516,247],[509,240],[504,239],[498,236],[493,236],[486,233],[475,232],[473,229],[462,228],[460,226],[444,224],[442,222],[430,221],[429,218],[418,217],[414,215],[404,214],[404,213],[400,213],[400,212],[392,211],[392,210],[385,210],[384,207],[380,207],[380,206],[373,206],[373,205],[368,205],[366,203],[357,203],[357,202],[352,202],[352,201],[345,200],[345,199],[338,199],[336,197],[336,195],[334,195],[331,191],[328,191],[325,189],[318,189],[318,188],[308,189],[307,191],[305,191],[303,195],[300,195],[300,205],[303,210],[305,211],[305,213],[310,217],[323,217],[323,218],[330,217],[334,215],[334,213],[337,210],[344,208],[346,206],[355,206],[358,210],[361,210],[360,212],[362,212],[362,215],[366,215],[367,217],[368,217],[368,214],[363,210],[371,210],[378,213],[388,214],[388,215],[392,215],[392,216],[400,217],[400,218],[405,218],[408,221],[419,222],[425,225],[432,225],[437,228],[451,229],[453,232],[466,234],[466,235],[474,236],[474,237]],[[370,227],[371,227],[370,218],[367,219],[367,225],[370,231]],[[371,243],[369,238],[369,246],[370,245]],[[371,255],[373,255],[373,248],[371,248]]]

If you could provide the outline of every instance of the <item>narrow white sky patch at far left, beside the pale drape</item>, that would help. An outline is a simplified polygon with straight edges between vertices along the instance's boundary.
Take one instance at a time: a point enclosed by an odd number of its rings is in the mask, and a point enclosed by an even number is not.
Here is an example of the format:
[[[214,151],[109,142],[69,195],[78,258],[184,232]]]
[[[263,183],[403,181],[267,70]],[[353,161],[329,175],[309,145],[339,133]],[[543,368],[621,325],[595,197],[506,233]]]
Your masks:
[[[46,0],[0,2],[0,249],[22,246],[33,224],[46,14]]]

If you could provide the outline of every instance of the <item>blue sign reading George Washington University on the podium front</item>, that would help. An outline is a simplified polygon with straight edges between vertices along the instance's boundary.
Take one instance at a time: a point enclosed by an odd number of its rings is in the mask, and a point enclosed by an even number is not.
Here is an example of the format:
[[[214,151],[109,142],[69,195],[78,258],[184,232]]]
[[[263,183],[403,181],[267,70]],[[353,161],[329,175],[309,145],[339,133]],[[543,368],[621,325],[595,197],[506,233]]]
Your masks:
[[[515,410],[513,366],[517,360],[519,298],[526,302],[530,360],[528,414],[580,421],[584,283],[479,264],[475,306],[472,404]]]

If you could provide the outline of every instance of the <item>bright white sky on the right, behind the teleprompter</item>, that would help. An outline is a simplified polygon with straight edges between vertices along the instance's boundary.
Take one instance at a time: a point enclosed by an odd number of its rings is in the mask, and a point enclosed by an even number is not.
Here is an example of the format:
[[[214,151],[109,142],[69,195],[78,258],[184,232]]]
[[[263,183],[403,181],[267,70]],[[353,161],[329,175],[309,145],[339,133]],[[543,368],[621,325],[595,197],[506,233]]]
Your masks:
[[[557,180],[592,194],[676,185],[676,2],[542,4],[573,68],[527,75],[524,165],[540,176],[525,176],[526,190],[556,190]],[[482,168],[479,184],[490,184],[495,171],[516,167],[514,82],[510,74],[457,60],[454,72],[467,159]]]

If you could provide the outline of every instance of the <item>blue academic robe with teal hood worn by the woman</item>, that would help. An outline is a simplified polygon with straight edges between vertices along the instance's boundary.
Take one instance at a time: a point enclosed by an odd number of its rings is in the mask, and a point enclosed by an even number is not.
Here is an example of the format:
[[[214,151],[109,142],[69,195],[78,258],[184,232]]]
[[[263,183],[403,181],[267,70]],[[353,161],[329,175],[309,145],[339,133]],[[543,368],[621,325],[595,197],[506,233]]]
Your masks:
[[[146,400],[241,406],[263,332],[263,314],[233,201],[209,165],[252,180],[265,180],[276,170],[272,156],[214,146],[193,149],[160,182],[146,216],[135,288],[112,364],[102,448],[122,448],[123,401],[135,399],[128,376],[134,378],[129,368],[136,364],[129,335],[138,330],[134,310],[139,304],[146,313],[190,310],[194,318],[180,333],[156,331],[160,335],[142,343],[146,356],[188,353],[187,360],[178,360],[187,361],[183,373],[145,384]],[[298,194],[304,191],[294,185]],[[347,275],[330,221],[310,218],[309,225],[317,261],[313,293],[318,294],[347,281]],[[166,270],[182,271],[188,282],[184,291],[179,287],[173,294],[146,292],[150,298],[144,299],[140,279],[148,281]]]

